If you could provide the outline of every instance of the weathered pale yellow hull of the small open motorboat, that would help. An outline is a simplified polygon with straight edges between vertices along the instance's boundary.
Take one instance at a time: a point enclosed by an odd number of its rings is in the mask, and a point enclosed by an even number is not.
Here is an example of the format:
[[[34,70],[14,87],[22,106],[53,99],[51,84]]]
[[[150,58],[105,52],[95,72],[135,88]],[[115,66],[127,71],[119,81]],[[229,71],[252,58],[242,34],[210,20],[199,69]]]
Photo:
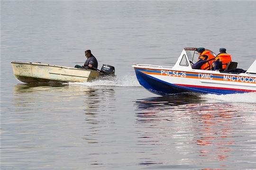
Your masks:
[[[22,83],[87,82],[100,76],[100,72],[35,62],[11,62],[14,76]]]

